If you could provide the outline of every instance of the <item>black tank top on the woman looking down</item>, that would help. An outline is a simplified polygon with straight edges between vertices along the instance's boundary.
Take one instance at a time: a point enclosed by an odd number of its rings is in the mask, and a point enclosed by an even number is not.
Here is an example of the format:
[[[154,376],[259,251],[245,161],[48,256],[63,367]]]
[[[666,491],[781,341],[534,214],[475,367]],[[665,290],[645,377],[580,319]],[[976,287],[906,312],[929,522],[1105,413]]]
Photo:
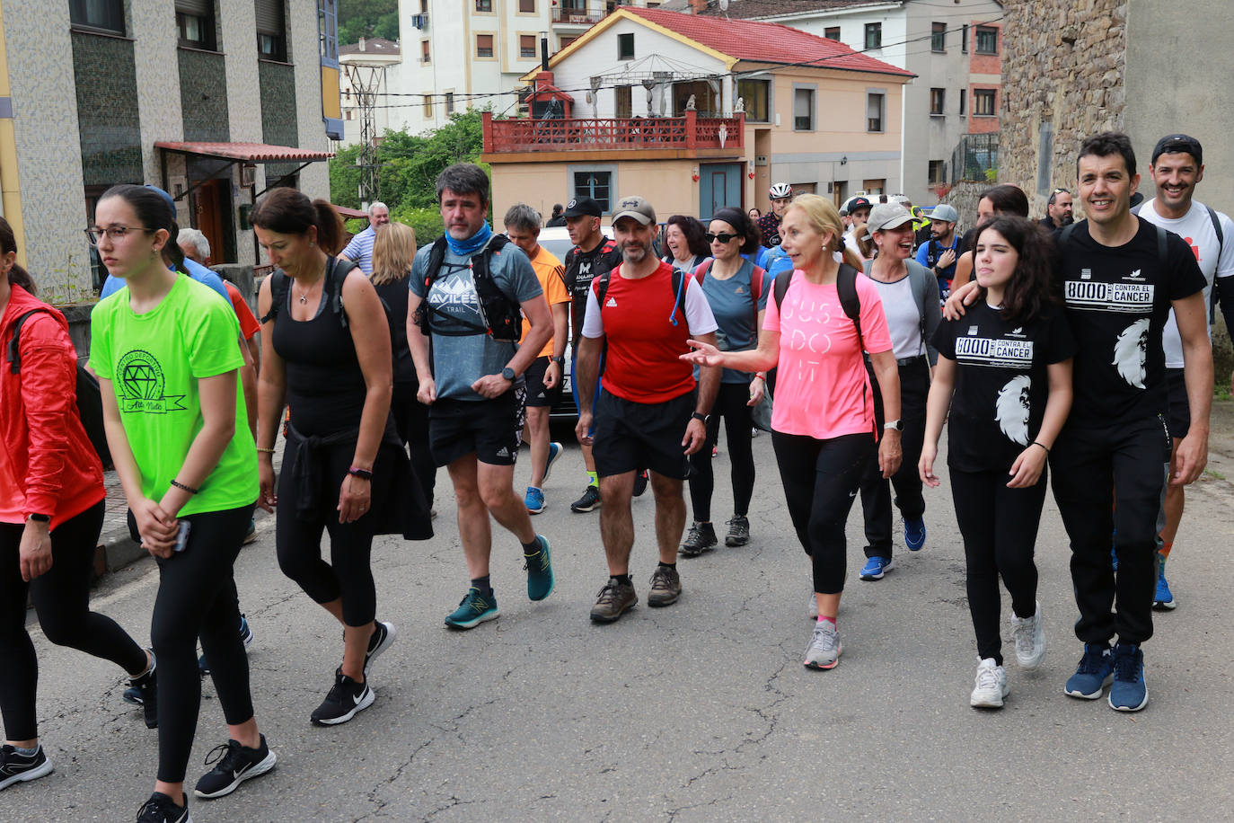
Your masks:
[[[291,317],[291,292],[274,322],[274,352],[286,366],[291,424],[305,436],[358,428],[368,389],[349,328],[326,305],[326,289],[312,320]]]

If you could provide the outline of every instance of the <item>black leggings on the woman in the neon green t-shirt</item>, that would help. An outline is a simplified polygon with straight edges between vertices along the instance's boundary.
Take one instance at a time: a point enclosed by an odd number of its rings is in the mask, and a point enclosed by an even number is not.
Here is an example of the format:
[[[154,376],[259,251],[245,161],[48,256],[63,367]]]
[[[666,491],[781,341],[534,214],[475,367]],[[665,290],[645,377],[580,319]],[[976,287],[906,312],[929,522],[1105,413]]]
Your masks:
[[[201,708],[197,638],[210,660],[218,703],[230,726],[253,717],[248,655],[239,637],[232,565],[253,506],[188,515],[189,545],[158,558],[159,586],[151,618],[158,661],[158,779],[184,781]]]

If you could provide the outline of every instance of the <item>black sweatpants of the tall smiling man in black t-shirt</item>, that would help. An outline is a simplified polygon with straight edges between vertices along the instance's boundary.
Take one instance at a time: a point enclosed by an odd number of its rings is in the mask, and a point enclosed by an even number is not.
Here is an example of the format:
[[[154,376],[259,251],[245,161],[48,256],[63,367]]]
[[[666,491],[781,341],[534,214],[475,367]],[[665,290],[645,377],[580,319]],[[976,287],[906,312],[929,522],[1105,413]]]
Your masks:
[[[1148,640],[1170,471],[1165,421],[1154,416],[1111,428],[1066,426],[1050,450],[1050,470],[1071,538],[1076,637],[1085,643],[1108,643],[1114,634],[1122,643]],[[1111,532],[1117,576],[1109,563]]]

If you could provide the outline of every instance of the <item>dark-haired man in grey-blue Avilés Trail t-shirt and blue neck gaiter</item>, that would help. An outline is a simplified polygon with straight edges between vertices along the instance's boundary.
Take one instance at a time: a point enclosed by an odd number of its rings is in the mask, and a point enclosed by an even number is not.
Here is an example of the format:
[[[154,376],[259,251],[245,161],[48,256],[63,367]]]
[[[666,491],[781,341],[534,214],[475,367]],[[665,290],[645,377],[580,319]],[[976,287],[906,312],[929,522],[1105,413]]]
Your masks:
[[[485,221],[489,178],[484,170],[471,163],[449,167],[437,178],[437,197],[448,246],[437,271],[428,271],[432,247],[416,254],[407,296],[407,344],[420,376],[417,397],[429,407],[433,460],[449,468],[454,484],[459,538],[471,579],[445,624],[469,629],[499,616],[489,577],[490,513],[522,543],[527,596],[544,600],[555,584],[548,540],[536,534],[527,507],[515,494],[526,397],[522,374],[552,337],[553,315],[527,255],[512,243],[494,243]],[[523,322],[531,323],[523,345],[495,341],[489,333],[476,292],[476,265],[486,267],[497,290],[522,308]],[[422,302],[427,311],[418,312]],[[417,313],[427,328],[416,323]]]

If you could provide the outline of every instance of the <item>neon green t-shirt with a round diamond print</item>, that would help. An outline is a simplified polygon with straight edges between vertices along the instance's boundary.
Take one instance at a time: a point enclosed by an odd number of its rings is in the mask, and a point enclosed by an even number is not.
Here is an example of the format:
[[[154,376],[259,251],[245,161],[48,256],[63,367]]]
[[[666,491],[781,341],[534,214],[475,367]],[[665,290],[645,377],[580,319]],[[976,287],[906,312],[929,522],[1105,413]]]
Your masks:
[[[111,380],[142,475],[142,494],[151,500],[167,494],[201,431],[197,380],[244,364],[238,341],[231,306],[183,274],[163,302],[144,315],[130,307],[127,287],[94,307],[90,368]],[[257,500],[257,449],[246,413],[237,380],[236,434],[181,516],[239,508]]]

